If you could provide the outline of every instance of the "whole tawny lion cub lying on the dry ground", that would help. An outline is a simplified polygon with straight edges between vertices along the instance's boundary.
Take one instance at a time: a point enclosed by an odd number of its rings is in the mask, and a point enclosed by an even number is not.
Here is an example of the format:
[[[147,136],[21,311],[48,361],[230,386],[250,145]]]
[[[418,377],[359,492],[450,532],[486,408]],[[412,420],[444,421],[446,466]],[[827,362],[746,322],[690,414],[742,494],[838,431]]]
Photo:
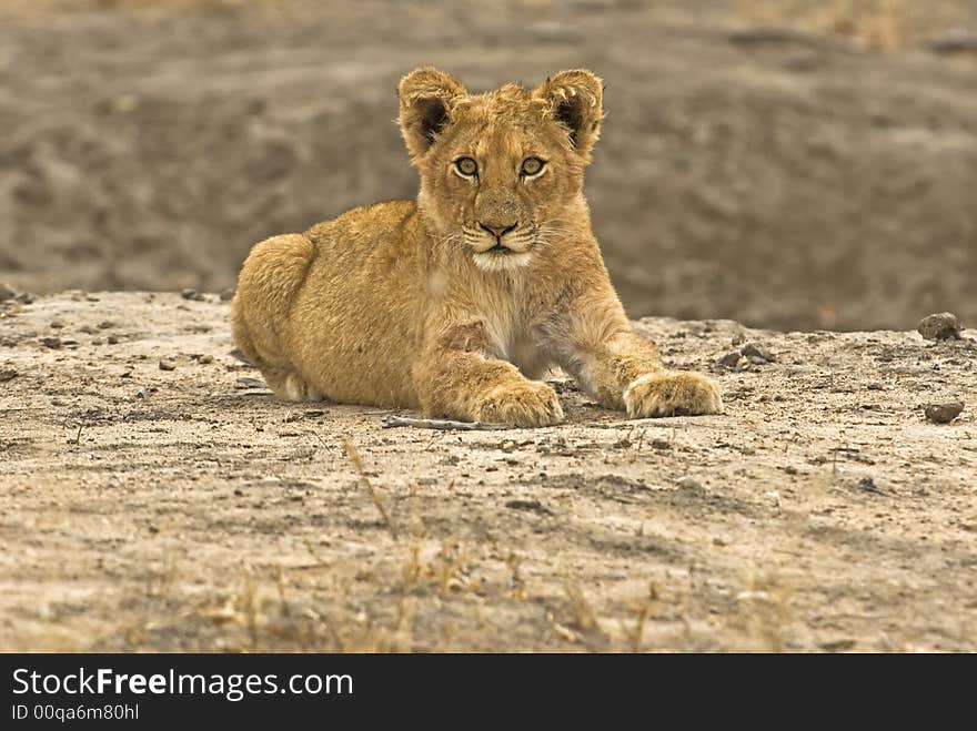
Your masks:
[[[601,80],[470,94],[432,68],[399,85],[416,201],[355,209],[254,246],[234,339],[275,394],[545,426],[568,372],[632,417],[715,414],[715,382],[666,370],[631,328],[591,232],[583,171]]]

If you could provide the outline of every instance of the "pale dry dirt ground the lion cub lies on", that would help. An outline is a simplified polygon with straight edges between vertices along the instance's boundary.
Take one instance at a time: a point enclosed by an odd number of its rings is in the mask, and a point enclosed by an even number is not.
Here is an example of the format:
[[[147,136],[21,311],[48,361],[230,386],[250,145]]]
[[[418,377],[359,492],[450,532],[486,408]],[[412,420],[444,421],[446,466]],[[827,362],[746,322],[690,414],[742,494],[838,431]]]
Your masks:
[[[0,650],[977,650],[973,329],[645,319],[725,415],[471,433],[273,400],[216,295],[0,313]]]

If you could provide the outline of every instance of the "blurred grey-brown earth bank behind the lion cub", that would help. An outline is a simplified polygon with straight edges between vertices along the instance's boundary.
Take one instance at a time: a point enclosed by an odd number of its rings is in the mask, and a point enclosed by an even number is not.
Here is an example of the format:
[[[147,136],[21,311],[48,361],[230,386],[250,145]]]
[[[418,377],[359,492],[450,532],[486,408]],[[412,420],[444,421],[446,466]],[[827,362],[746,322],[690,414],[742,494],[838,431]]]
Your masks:
[[[0,0],[0,283],[220,291],[413,197],[395,84],[586,67],[632,316],[977,323],[977,0]]]

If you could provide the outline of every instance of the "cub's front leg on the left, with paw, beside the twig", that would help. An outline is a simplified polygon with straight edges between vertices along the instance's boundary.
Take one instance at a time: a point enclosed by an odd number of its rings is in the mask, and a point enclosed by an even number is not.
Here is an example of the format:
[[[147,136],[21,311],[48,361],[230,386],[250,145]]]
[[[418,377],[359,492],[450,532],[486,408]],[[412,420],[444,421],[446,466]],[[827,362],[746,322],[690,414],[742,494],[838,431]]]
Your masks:
[[[414,364],[414,386],[424,413],[524,427],[562,422],[556,392],[530,380],[500,355],[501,348],[480,321],[439,328]]]

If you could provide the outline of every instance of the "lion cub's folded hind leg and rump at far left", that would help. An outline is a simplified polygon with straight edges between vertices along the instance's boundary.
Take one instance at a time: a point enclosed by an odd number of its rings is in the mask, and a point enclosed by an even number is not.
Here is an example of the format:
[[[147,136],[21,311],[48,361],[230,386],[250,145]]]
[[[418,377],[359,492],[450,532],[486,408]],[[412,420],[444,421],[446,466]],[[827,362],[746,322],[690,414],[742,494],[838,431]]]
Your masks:
[[[301,234],[285,234],[255,244],[241,267],[231,304],[234,342],[261,370],[279,398],[321,400],[291,358],[288,334],[292,303],[305,282],[314,247]]]

